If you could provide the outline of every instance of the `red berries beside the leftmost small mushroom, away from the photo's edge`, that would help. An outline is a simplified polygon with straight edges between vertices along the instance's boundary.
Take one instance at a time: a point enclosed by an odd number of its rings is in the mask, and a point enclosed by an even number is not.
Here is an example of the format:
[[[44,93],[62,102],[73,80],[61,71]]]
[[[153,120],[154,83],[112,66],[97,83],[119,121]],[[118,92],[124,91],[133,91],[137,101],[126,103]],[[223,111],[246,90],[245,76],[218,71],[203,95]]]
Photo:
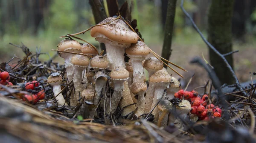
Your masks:
[[[31,83],[29,82],[29,83],[26,83],[26,85],[25,85],[25,89],[26,89],[26,91],[33,91],[33,93],[34,93],[34,89],[36,88],[36,87],[38,87],[39,86],[39,83],[38,83],[38,81],[32,81]],[[27,102],[29,102],[29,103],[32,103],[32,104],[35,104],[35,103],[37,103],[39,100],[41,100],[41,99],[44,99],[44,97],[45,97],[45,93],[44,93],[44,89],[40,89],[39,90],[39,92],[37,93],[37,94],[32,94],[32,95],[28,95],[28,94],[25,94],[23,97],[22,97],[22,99],[23,99],[23,101],[27,101]]]

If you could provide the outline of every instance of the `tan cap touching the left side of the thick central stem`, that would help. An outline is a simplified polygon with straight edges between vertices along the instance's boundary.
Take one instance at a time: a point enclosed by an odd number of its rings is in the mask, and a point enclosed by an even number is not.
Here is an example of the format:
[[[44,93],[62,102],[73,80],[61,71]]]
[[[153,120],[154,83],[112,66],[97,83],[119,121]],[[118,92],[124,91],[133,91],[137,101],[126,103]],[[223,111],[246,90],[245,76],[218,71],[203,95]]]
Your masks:
[[[90,60],[90,66],[93,68],[107,69],[108,64],[108,58],[105,56],[97,55]]]

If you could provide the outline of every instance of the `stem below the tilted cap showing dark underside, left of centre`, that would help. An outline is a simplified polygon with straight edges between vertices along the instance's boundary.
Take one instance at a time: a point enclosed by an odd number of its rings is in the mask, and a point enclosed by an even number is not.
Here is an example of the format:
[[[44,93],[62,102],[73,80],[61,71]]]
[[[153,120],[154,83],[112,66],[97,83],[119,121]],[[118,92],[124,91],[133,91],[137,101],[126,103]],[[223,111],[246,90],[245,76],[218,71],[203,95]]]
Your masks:
[[[96,83],[95,83],[96,95],[95,95],[94,101],[93,101],[93,104],[96,106],[99,104],[99,100],[101,98],[102,91],[105,91],[106,83],[107,83],[107,80],[105,80],[103,77],[99,77],[96,80]]]

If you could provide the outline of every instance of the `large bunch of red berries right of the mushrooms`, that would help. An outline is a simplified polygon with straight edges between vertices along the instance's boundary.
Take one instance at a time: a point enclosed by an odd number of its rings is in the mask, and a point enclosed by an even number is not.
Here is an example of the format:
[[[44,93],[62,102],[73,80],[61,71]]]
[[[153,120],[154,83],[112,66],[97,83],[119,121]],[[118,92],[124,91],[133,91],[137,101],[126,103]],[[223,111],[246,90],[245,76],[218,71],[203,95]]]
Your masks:
[[[189,100],[191,104],[191,114],[196,114],[200,120],[209,120],[214,117],[221,117],[221,109],[213,104],[208,105],[208,95],[204,94],[200,96],[196,91],[183,91],[180,89],[174,94],[174,97]]]

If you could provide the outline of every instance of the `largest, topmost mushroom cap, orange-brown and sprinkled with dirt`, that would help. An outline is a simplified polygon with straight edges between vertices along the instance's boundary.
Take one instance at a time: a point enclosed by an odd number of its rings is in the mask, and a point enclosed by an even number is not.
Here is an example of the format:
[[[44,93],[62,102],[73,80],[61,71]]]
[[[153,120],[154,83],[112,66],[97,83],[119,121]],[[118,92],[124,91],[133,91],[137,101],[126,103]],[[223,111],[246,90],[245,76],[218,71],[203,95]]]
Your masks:
[[[99,24],[108,23],[114,19],[114,17],[108,17]],[[90,34],[91,37],[108,37],[108,39],[118,43],[136,43],[139,39],[139,36],[121,19],[102,26],[93,27]]]

